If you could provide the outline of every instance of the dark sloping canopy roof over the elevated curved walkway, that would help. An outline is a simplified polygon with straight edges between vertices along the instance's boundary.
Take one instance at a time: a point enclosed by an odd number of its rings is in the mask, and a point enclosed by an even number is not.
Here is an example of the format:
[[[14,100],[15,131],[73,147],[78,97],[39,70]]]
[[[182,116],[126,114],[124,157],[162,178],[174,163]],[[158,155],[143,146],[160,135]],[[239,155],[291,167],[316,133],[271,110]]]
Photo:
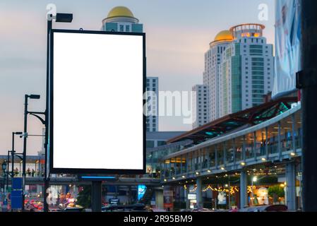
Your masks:
[[[225,117],[172,138],[167,143],[192,140],[194,144],[198,144],[230,131],[261,124],[263,121],[272,119],[291,109],[292,103],[297,101],[297,97],[283,97],[279,100],[265,102],[263,105],[258,105],[234,114],[228,114]]]

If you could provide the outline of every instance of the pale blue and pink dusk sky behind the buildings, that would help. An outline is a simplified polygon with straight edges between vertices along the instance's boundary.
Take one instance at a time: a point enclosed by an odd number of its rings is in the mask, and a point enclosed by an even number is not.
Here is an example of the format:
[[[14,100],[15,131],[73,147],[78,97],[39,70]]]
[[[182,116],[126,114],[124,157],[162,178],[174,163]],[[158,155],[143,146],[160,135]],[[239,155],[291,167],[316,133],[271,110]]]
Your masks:
[[[30,110],[45,108],[47,4],[73,13],[73,23],[54,23],[54,28],[75,30],[100,30],[114,6],[130,8],[144,25],[148,76],[159,77],[160,90],[189,91],[203,83],[209,42],[233,25],[263,23],[264,36],[274,43],[274,0],[0,0],[0,155],[11,150],[12,131],[23,131],[24,95],[42,96],[30,100]],[[260,4],[268,4],[267,21],[258,20]],[[186,131],[191,125],[182,117],[160,117],[159,128]],[[29,117],[28,132],[42,134],[38,119]],[[36,155],[41,145],[41,138],[28,138],[28,155]],[[18,137],[16,150],[22,151]]]

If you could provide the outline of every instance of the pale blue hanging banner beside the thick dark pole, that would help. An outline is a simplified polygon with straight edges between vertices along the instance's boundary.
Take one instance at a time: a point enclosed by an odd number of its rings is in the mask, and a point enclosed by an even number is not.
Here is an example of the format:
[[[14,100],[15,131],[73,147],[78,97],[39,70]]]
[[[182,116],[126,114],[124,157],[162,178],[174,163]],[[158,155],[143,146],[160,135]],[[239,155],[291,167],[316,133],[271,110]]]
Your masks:
[[[296,90],[296,73],[301,71],[301,6],[299,0],[275,2],[273,98]]]

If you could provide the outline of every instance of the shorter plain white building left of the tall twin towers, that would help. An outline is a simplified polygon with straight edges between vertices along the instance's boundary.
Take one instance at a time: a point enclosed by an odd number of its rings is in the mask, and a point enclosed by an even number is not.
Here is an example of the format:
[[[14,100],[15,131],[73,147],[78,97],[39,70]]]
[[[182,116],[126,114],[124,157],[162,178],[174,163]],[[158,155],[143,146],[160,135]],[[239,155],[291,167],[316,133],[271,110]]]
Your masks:
[[[209,112],[209,86],[195,85],[193,86],[193,128],[203,126],[210,119]]]

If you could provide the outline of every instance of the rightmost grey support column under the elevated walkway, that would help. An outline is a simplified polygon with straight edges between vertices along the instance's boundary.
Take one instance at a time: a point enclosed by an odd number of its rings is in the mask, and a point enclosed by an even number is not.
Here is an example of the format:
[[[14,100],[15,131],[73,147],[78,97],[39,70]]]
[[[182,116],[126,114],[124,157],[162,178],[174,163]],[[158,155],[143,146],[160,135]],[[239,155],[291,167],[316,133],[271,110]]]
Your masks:
[[[296,210],[296,170],[295,163],[286,164],[286,202],[289,210]]]

